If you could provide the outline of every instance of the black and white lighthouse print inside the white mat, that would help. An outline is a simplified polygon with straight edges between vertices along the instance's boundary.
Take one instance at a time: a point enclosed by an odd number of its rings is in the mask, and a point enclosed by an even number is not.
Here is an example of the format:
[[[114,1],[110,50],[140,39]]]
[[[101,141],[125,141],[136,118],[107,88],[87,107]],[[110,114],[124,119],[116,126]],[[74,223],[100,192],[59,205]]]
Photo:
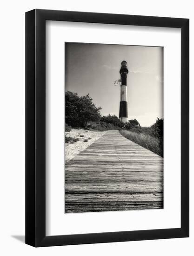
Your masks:
[[[65,214],[163,209],[163,47],[65,42]]]

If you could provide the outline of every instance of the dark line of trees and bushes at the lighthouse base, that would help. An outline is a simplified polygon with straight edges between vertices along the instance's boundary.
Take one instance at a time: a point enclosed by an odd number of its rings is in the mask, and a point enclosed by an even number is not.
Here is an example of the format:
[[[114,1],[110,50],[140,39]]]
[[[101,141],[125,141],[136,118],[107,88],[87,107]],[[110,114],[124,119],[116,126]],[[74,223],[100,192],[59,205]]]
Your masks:
[[[67,91],[65,93],[66,124],[71,127],[92,128],[97,130],[127,129],[136,133],[147,133],[151,136],[163,139],[163,119],[157,118],[151,127],[141,127],[134,119],[123,123],[116,115],[101,116],[89,94],[79,96],[77,93]]]

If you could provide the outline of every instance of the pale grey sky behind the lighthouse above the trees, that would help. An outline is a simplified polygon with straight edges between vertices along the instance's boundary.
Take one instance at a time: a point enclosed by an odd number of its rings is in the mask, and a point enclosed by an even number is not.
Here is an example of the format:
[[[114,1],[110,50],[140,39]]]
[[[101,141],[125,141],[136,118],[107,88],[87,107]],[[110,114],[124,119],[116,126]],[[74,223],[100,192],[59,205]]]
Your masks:
[[[89,95],[101,115],[119,116],[121,61],[127,61],[128,118],[163,118],[163,47],[65,43],[65,91]]]

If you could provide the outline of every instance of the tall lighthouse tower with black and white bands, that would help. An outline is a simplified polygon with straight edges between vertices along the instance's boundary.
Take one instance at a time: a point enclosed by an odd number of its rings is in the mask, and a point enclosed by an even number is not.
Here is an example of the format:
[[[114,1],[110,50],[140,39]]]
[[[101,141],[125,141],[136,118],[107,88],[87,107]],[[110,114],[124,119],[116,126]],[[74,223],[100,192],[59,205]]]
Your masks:
[[[119,109],[119,119],[120,121],[126,123],[128,121],[128,109],[127,109],[127,61],[121,62],[120,67],[120,109]]]

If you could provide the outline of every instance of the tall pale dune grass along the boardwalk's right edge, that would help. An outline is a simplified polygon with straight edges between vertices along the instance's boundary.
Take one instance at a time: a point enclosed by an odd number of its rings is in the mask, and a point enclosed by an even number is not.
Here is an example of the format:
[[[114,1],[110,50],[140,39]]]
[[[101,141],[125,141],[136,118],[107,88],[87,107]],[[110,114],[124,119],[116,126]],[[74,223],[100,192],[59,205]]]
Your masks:
[[[133,141],[141,147],[147,148],[157,155],[163,157],[163,148],[161,147],[161,141],[159,138],[155,138],[146,133],[136,133],[130,130],[120,130],[120,134],[130,141]]]

